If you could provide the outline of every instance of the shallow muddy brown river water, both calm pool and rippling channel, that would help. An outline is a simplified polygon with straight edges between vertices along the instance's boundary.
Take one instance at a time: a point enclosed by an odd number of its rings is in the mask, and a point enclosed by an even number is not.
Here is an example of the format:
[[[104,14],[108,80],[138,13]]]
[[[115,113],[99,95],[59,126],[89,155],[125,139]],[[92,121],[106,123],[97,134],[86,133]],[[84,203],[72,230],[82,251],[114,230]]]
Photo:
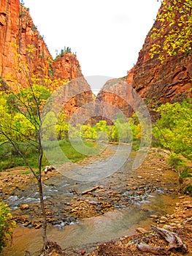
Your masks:
[[[145,193],[142,196],[126,194],[125,186],[128,182],[128,177],[136,176],[134,170],[131,170],[131,162],[133,162],[135,155],[131,154],[126,160],[123,167],[120,168],[118,173],[105,178],[100,184],[103,187],[107,187],[107,184],[115,182],[119,186],[116,189],[122,189],[122,195],[128,197],[131,202],[129,206],[124,206],[124,202],[118,203],[114,211],[107,212],[99,217],[91,217],[88,219],[82,219],[79,222],[71,222],[70,225],[58,225],[49,226],[47,230],[47,236],[50,241],[57,241],[61,245],[62,249],[73,246],[77,249],[91,250],[94,243],[103,241],[109,241],[110,239],[119,238],[120,236],[131,235],[134,233],[137,227],[142,226],[149,228],[152,224],[150,219],[151,214],[164,215],[166,213],[172,213],[175,203],[177,202],[177,196],[165,193],[161,187],[155,187],[153,189],[145,189]],[[124,159],[124,156],[123,156]],[[97,165],[96,162],[87,167],[93,167]],[[101,168],[101,162],[98,162],[99,168]],[[138,176],[138,173],[137,173]],[[79,183],[70,181],[68,178],[61,182],[53,180],[51,186],[45,186],[45,196],[48,198],[55,191],[55,200],[62,197],[72,197],[70,189],[85,190],[89,187],[93,187],[94,182],[91,183]],[[98,184],[98,181],[96,181]],[[30,194],[30,192],[28,191]],[[31,194],[31,195],[34,195]],[[9,197],[7,203],[12,208],[17,208],[19,203],[27,203],[33,200],[38,200],[36,196],[28,196],[26,192],[22,195],[18,195],[15,198]],[[139,197],[139,198],[138,198]],[[53,200],[53,198],[52,198]],[[62,203],[62,202],[61,202]],[[42,246],[41,230],[30,229],[18,225],[14,231],[12,245],[4,249],[1,254],[3,256],[24,256],[26,251],[31,252],[31,255],[36,255],[38,249]]]

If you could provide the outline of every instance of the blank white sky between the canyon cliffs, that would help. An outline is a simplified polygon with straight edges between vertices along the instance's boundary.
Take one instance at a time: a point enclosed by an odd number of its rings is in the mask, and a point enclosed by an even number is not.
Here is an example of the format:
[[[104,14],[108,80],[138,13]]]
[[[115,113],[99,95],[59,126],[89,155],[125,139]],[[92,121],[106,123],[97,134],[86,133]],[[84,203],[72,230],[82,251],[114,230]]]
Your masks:
[[[157,0],[24,0],[53,57],[77,52],[86,76],[120,78],[137,62]]]

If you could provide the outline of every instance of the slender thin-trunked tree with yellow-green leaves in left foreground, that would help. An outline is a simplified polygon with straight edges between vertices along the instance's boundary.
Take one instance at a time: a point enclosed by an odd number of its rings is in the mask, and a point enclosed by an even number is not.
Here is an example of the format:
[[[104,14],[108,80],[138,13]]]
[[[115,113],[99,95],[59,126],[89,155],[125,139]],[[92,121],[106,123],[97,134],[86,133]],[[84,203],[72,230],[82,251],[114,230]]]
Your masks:
[[[28,61],[22,59],[15,45],[14,49],[15,63],[13,67],[15,72],[10,74],[11,83],[8,85],[7,91],[0,94],[0,140],[12,145],[37,180],[43,217],[43,248],[46,248],[50,242],[47,241],[47,218],[42,191],[42,123],[47,113],[42,113],[42,110],[47,98],[50,97],[51,83],[56,88],[61,80],[52,81],[45,75],[43,67],[41,74],[35,75],[31,69],[31,63],[37,49],[33,45],[28,45],[26,49]],[[49,65],[47,64],[47,66]],[[28,146],[37,152],[37,171],[32,167],[26,152],[21,148],[23,141],[26,141]]]

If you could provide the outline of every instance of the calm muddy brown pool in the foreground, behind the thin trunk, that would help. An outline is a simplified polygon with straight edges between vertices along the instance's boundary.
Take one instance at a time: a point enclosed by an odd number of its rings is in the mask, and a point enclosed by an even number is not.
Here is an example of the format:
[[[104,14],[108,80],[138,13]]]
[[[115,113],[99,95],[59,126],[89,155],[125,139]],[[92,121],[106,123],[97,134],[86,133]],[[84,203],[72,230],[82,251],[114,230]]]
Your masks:
[[[78,224],[68,225],[64,230],[49,227],[48,238],[57,241],[62,248],[81,246],[130,235],[139,225],[149,227],[151,214],[171,213],[177,198],[170,195],[154,195],[149,203],[131,206],[129,209],[115,210],[100,217],[83,219]],[[164,211],[162,211],[164,209]],[[28,250],[37,252],[42,246],[41,230],[18,227],[15,230],[13,244],[4,250],[5,255],[22,256]]]

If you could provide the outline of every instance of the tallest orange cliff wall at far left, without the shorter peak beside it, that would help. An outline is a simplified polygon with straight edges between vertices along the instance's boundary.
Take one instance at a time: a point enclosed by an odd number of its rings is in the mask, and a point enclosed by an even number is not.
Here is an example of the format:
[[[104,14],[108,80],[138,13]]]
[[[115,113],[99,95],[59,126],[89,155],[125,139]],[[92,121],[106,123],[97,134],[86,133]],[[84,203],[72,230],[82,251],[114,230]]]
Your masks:
[[[30,71],[39,75],[47,74],[47,59],[51,59],[49,50],[47,50],[44,40],[34,26],[28,10],[26,7],[20,6],[19,0],[2,0],[0,29],[1,78],[7,82],[12,82],[13,77],[18,77],[15,72],[19,69],[18,62],[21,61],[24,65],[29,66]],[[32,53],[29,53],[29,45],[34,48]],[[17,59],[16,53],[20,55],[20,59]]]

